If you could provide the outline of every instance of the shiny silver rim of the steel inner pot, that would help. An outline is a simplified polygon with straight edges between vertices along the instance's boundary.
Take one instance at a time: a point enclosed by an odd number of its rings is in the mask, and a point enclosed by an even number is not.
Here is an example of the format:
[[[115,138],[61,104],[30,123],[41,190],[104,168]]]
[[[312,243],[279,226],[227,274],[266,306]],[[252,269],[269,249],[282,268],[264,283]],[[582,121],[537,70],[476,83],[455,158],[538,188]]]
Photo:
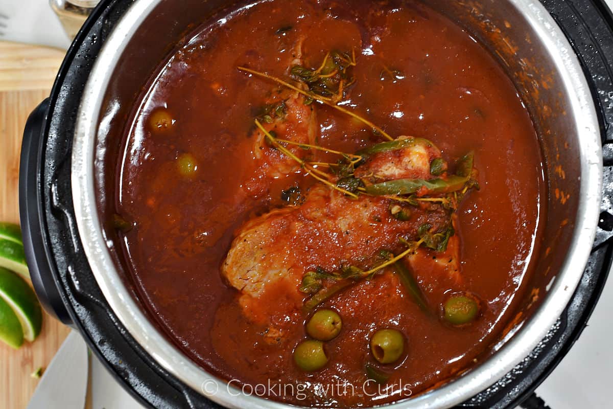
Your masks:
[[[104,115],[101,115],[102,101],[121,52],[160,1],[137,0],[132,4],[106,40],[85,86],[73,140],[71,175],[75,218],[83,250],[110,308],[134,340],[174,377],[226,407],[295,408],[294,405],[242,394],[239,389],[202,369],[167,340],[124,286],[101,229],[97,212],[95,159],[97,136],[106,131]],[[600,215],[603,178],[600,128],[592,95],[571,45],[543,5],[531,0],[508,1],[521,10],[527,23],[546,45],[555,65],[562,67],[560,85],[571,102],[581,140],[581,199],[573,241],[543,304],[498,351],[462,377],[412,399],[390,403],[389,407],[447,408],[470,399],[498,381],[528,356],[562,314],[581,280],[592,250]]]

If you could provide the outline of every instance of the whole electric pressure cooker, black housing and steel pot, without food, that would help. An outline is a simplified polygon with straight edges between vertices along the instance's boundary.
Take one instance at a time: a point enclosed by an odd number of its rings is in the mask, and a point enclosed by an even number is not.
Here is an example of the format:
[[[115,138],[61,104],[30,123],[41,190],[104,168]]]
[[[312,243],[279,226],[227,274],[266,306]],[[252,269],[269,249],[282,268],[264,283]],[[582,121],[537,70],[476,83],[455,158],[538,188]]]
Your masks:
[[[548,250],[489,356],[393,407],[544,407],[533,391],[581,335],[611,269],[613,15],[598,0],[424,2],[489,48],[522,94],[546,158]],[[20,213],[32,283],[149,407],[289,407],[234,397],[183,355],[140,304],[105,223],[132,102],[186,34],[235,3],[102,1],[26,124]]]

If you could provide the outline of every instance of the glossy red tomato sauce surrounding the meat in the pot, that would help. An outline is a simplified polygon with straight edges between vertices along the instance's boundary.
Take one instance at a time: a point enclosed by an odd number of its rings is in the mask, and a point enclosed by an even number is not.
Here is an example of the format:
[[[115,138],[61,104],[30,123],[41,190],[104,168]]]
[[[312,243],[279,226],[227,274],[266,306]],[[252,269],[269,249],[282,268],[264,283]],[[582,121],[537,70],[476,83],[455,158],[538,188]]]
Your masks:
[[[240,293],[220,273],[243,223],[283,207],[285,189],[306,191],[315,183],[292,172],[260,177],[255,196],[244,193],[256,175],[249,137],[254,112],[275,84],[237,67],[290,80],[300,39],[307,67],[319,66],[330,50],[356,50],[356,82],[341,105],[394,137],[432,140],[450,163],[473,150],[481,185],[462,202],[456,232],[463,290],[483,303],[477,321],[452,327],[425,315],[397,277],[379,274],[324,303],[343,318],[343,329],[326,343],[330,361],[314,373],[292,359],[307,337],[307,315],[287,315],[283,345],[266,343],[264,327],[245,316]],[[317,102],[314,107],[320,145],[355,152],[382,142],[359,121]],[[152,115],[160,112],[170,120],[152,126]],[[124,233],[124,255],[143,304],[204,369],[242,384],[280,385],[281,393],[269,399],[369,406],[449,380],[498,340],[539,251],[547,192],[530,116],[495,59],[459,26],[417,2],[272,0],[202,26],[135,102],[124,146],[117,212],[134,221]],[[306,259],[304,251],[298,247],[292,255]],[[430,305],[440,306],[457,291],[423,272],[416,278]],[[284,311],[284,303],[294,302],[288,293],[283,285],[268,289],[267,299],[277,304],[266,308]],[[402,331],[405,354],[385,367],[386,386],[364,386],[365,364],[373,362],[368,342],[383,327]],[[303,385],[303,393],[288,384]]]

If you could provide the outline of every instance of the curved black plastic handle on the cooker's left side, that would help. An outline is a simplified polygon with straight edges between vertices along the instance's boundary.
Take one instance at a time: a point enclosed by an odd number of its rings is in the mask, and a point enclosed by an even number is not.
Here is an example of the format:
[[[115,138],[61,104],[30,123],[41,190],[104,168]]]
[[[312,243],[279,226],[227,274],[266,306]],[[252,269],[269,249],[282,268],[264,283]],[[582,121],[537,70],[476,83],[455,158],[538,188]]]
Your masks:
[[[48,313],[62,323],[72,320],[64,305],[58,284],[53,278],[50,251],[45,240],[45,221],[40,196],[40,175],[43,165],[43,129],[49,111],[49,99],[40,103],[28,117],[23,131],[19,166],[19,211],[23,247],[26,253],[32,286]]]

